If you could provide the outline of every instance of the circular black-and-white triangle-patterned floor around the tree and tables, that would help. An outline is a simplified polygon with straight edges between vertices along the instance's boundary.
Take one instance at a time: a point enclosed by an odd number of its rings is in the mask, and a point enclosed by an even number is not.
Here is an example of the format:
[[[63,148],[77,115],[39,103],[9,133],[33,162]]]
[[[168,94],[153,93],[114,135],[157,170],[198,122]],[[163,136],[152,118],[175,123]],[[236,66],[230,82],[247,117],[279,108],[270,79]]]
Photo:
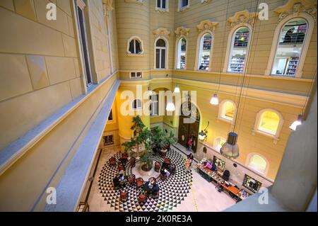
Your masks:
[[[120,153],[114,155],[116,161],[119,162],[121,157]],[[166,212],[176,208],[181,204],[182,200],[187,197],[192,185],[192,172],[187,173],[184,171],[184,158],[176,150],[171,149],[167,152],[167,158],[176,165],[176,172],[174,175],[170,175],[168,179],[162,181],[158,179],[157,183],[160,188],[158,198],[148,198],[144,204],[139,204],[138,196],[140,190],[136,189],[136,186],[124,187],[124,190],[128,192],[128,199],[122,201],[119,198],[119,189],[115,189],[112,183],[112,179],[118,173],[118,166],[110,166],[107,162],[102,167],[100,172],[98,188],[102,197],[107,204],[110,204],[111,208],[117,211],[154,211],[154,212]],[[163,157],[158,155],[153,156],[154,161],[163,162]],[[126,175],[131,175],[131,167],[129,162],[125,166]]]

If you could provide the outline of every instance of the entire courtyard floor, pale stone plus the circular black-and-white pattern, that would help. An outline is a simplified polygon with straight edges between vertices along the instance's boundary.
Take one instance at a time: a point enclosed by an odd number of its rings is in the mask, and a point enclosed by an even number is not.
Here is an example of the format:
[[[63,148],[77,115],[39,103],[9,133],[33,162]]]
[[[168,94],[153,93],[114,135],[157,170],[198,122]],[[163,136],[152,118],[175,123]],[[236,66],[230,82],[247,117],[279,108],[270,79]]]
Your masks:
[[[162,183],[164,181],[159,179],[159,198],[150,198],[148,204],[144,205],[139,205],[137,201],[138,191],[136,191],[136,187],[127,187],[129,200],[126,202],[119,200],[119,191],[114,191],[112,186],[112,179],[117,174],[117,168],[111,169],[107,165],[110,157],[119,158],[118,149],[104,149],[88,199],[90,211],[222,211],[235,204],[235,200],[230,198],[228,194],[219,193],[213,183],[203,179],[194,169],[195,164],[192,165],[192,174],[186,174],[183,166],[185,154],[179,152],[175,147],[172,149],[170,157],[174,158],[173,161],[177,161],[177,174],[175,178],[171,176],[170,182],[167,181],[167,183]],[[159,162],[163,162],[161,157],[158,158]],[[191,175],[191,178],[186,179],[186,175]]]

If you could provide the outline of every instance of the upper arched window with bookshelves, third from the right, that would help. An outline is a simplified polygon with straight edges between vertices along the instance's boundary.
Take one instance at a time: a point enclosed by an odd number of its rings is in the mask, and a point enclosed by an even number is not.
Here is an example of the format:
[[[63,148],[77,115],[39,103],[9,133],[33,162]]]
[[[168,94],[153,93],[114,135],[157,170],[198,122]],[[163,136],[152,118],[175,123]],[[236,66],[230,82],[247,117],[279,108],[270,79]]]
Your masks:
[[[212,35],[202,35],[199,45],[198,69],[208,71],[211,61]]]

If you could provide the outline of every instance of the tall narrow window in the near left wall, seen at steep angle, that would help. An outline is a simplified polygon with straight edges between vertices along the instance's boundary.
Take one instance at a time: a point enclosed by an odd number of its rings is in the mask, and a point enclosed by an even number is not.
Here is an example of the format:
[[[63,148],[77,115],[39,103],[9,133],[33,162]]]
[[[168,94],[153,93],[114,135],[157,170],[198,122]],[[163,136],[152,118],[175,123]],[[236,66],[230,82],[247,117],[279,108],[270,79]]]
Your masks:
[[[86,33],[85,7],[86,4],[84,3],[84,1],[76,1],[76,21],[78,25],[78,33],[80,36],[79,40],[81,45],[81,55],[83,58],[84,74],[86,77],[86,86],[90,86],[90,84],[93,84],[93,76],[90,67],[90,52],[88,50],[88,38]]]

